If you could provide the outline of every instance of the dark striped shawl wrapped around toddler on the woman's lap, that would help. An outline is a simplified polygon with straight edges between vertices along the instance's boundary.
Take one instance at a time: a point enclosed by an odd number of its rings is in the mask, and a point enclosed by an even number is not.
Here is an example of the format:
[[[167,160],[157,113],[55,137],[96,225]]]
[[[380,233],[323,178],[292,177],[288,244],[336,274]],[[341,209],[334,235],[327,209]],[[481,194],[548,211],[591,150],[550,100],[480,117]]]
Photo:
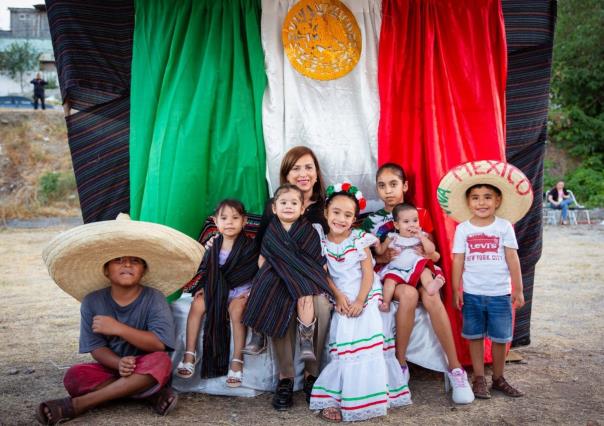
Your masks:
[[[286,231],[277,217],[266,228],[260,254],[266,262],[254,277],[243,323],[283,337],[302,296],[331,295],[319,234],[305,218]]]

